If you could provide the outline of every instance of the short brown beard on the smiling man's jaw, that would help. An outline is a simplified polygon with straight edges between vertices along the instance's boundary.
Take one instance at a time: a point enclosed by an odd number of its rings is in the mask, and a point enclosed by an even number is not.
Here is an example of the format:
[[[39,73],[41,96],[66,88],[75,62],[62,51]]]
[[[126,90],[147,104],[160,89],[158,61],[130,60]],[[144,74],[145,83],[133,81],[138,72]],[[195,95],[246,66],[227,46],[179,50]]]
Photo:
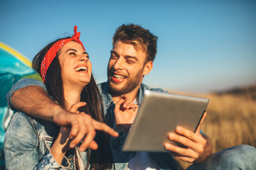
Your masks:
[[[108,89],[110,91],[111,96],[122,96],[124,94],[129,93],[130,91],[133,91],[140,83],[142,79],[142,72],[139,72],[136,77],[129,77],[127,79],[127,83],[124,84],[121,87],[116,87],[113,81],[110,80],[110,71],[107,69],[107,84],[108,84]],[[111,82],[110,82],[111,81]]]

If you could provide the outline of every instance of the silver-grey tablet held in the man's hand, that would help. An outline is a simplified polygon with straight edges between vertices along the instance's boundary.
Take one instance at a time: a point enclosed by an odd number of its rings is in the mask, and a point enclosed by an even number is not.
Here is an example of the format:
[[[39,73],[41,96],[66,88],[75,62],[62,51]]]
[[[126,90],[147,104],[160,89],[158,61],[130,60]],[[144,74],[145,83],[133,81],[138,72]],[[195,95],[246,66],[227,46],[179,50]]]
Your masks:
[[[164,149],[164,142],[170,142],[168,132],[177,125],[196,132],[208,102],[208,98],[145,91],[122,150],[168,152]]]

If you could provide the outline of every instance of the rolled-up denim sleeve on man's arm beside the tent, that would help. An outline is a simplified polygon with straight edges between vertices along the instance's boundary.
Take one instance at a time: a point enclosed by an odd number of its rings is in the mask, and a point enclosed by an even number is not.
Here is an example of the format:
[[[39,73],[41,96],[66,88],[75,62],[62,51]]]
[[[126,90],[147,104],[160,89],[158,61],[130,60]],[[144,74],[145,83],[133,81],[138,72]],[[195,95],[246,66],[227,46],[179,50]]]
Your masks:
[[[6,94],[6,101],[8,103],[9,108],[16,111],[16,109],[11,104],[11,96],[14,94],[15,91],[18,89],[22,89],[26,86],[41,86],[46,91],[46,85],[43,84],[42,81],[38,81],[36,79],[20,79],[11,87],[11,90]]]

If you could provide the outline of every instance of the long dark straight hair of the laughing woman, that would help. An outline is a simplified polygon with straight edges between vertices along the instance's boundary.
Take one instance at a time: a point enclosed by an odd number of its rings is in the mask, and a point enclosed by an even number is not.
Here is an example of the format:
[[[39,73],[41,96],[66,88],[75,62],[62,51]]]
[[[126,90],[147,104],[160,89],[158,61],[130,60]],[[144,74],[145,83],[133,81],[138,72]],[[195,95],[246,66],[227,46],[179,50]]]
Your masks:
[[[70,37],[67,37],[70,38]],[[58,40],[62,40],[66,38],[60,38]],[[50,47],[52,47],[55,42],[50,42],[46,47],[43,48],[36,57],[33,58],[32,67],[36,69],[36,71],[41,74],[41,62],[43,61],[43,57],[46,55]],[[53,59],[53,62],[48,67],[48,71],[46,74],[46,89],[48,95],[51,96],[55,101],[58,102],[60,106],[65,108],[65,98],[63,93],[63,80],[61,77],[61,69],[60,62],[58,60],[58,52],[57,56]],[[85,101],[86,106],[79,108],[80,112],[85,112],[92,116],[93,119],[104,123],[104,115],[102,114],[103,104],[102,98],[100,96],[100,91],[97,88],[97,84],[95,82],[94,77],[92,76],[89,84],[85,86],[82,90],[81,101]],[[111,169],[113,166],[113,157],[112,151],[109,145],[109,136],[104,132],[97,131],[95,141],[98,144],[97,150],[87,149],[87,168],[89,163],[91,164],[91,169]]]

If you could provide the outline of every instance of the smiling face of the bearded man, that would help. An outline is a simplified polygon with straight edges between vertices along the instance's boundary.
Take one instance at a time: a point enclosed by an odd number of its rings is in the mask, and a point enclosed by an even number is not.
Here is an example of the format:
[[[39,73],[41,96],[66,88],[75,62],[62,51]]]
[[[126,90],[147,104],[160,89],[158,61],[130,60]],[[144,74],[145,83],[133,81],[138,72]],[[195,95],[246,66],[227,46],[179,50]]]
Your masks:
[[[110,94],[121,96],[133,91],[142,83],[146,52],[120,40],[114,43],[107,67]]]

